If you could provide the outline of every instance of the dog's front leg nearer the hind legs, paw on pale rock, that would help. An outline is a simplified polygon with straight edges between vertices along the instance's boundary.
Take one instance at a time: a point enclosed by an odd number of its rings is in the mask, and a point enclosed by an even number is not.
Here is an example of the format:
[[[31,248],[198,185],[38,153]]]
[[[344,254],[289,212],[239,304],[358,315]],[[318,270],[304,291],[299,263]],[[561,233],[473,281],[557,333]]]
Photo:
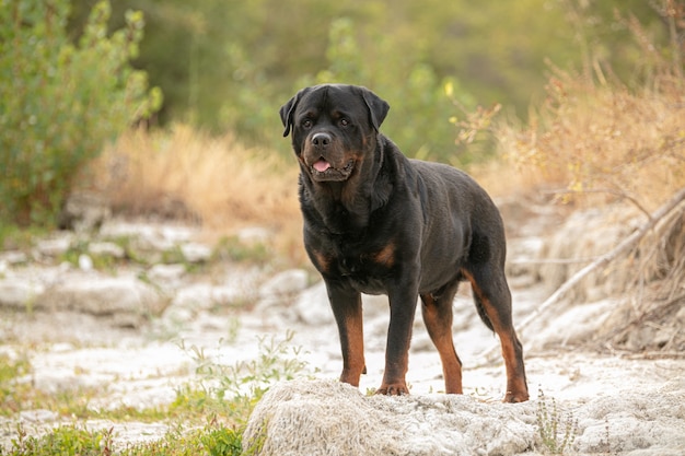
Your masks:
[[[385,347],[385,372],[376,394],[409,394],[405,376],[409,364],[411,326],[418,301],[418,285],[413,281],[395,283],[388,289],[390,327]]]

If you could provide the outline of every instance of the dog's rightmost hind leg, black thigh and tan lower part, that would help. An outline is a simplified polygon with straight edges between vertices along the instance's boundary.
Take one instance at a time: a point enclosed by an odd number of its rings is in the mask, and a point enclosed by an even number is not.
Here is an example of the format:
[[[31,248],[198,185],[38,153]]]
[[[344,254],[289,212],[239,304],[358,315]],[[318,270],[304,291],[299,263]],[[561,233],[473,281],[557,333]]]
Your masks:
[[[503,267],[487,262],[463,269],[462,272],[472,284],[478,313],[486,325],[497,332],[502,346],[502,356],[507,367],[507,393],[503,401],[527,400],[523,348],[511,318],[511,292]]]

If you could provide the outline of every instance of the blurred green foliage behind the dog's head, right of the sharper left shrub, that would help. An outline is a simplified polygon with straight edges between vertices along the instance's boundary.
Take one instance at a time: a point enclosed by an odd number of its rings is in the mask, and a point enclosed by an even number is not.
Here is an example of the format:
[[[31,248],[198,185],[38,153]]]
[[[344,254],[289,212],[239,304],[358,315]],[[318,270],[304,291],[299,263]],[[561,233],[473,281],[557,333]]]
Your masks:
[[[74,38],[94,2],[74,3]],[[407,154],[464,163],[473,151],[455,143],[449,118],[462,115],[462,107],[499,103],[525,119],[530,103],[544,96],[546,59],[579,69],[601,60],[618,78],[634,80],[639,44],[616,11],[639,17],[650,38],[665,45],[667,30],[654,3],[118,0],[111,23],[123,26],[128,9],[144,13],[146,39],[133,65],[164,93],[159,125],[232,130],[289,151],[278,107],[305,84],[350,82],[391,104],[383,131]]]

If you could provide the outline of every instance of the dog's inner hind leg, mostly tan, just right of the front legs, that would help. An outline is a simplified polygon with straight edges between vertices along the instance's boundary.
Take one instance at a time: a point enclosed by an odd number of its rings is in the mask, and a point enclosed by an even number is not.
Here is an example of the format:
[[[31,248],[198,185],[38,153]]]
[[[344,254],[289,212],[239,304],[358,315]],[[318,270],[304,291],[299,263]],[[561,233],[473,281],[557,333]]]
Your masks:
[[[442,362],[444,388],[448,394],[462,394],[462,361],[452,339],[452,301],[458,282],[449,284],[439,294],[421,294],[421,314],[430,339]]]

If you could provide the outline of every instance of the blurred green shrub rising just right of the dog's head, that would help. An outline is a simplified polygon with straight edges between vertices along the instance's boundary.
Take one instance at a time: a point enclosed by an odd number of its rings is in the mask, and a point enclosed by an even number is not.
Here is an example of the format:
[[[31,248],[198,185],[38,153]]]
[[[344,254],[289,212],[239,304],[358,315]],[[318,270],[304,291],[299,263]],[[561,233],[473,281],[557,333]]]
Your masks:
[[[372,63],[362,58],[364,45],[357,38],[355,22],[347,17],[333,21],[326,50],[328,68],[320,71],[314,82],[365,85],[387,101],[391,110],[381,131],[405,154],[454,164],[471,161],[466,149],[454,141],[450,118],[457,110],[455,102],[467,110],[474,108],[473,96],[455,78],[438,77],[421,56],[397,55],[382,32],[370,34],[378,49]]]

